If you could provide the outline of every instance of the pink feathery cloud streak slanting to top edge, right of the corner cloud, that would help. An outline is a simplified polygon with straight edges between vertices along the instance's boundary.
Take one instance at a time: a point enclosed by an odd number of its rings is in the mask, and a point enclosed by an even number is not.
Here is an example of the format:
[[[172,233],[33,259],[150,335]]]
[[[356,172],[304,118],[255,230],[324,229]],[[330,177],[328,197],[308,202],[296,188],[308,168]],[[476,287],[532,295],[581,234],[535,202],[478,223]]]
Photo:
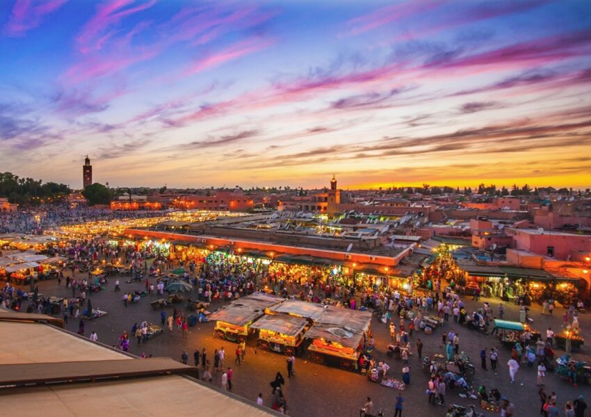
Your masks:
[[[83,54],[88,53],[88,51],[92,50],[90,45],[96,45],[99,40],[104,38],[103,33],[106,29],[117,24],[124,17],[151,8],[156,3],[156,0],[150,0],[147,3],[124,9],[133,3],[135,3],[135,0],[116,0],[99,6],[97,13],[84,25],[80,35],[76,38],[76,42],[80,45],[80,51]]]

